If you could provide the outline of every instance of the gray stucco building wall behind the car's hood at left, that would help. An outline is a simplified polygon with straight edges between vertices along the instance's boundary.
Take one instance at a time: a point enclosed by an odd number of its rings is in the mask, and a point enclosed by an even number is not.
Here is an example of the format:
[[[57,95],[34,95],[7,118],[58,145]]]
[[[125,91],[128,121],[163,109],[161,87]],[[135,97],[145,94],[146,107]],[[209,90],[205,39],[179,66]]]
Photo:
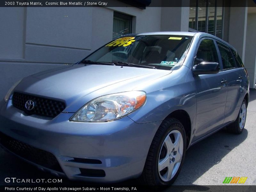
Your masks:
[[[133,32],[160,31],[161,7],[1,7],[0,98],[20,78],[74,63],[111,41],[114,10],[134,16]]]

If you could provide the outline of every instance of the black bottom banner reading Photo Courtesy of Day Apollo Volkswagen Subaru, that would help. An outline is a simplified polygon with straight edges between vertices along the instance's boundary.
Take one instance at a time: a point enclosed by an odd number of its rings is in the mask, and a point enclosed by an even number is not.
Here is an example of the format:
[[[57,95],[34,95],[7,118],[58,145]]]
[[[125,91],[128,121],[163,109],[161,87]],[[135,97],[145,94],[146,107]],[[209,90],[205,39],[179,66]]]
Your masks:
[[[158,186],[116,186],[116,185],[78,185],[78,186],[37,186],[37,185],[2,185],[0,186],[0,191],[163,191],[163,192],[196,192],[196,191],[207,191],[207,192],[255,192],[255,185],[214,185],[214,186],[200,186],[200,185],[183,185],[183,186],[168,186],[168,187],[158,187]]]

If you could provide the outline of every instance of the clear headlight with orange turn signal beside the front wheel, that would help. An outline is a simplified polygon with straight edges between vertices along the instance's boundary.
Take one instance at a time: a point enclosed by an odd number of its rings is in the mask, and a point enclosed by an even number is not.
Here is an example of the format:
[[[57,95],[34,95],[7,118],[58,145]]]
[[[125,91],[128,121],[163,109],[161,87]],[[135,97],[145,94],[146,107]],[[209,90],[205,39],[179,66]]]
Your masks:
[[[73,115],[70,121],[106,122],[126,116],[140,108],[146,101],[143,91],[115,93],[98,97]]]

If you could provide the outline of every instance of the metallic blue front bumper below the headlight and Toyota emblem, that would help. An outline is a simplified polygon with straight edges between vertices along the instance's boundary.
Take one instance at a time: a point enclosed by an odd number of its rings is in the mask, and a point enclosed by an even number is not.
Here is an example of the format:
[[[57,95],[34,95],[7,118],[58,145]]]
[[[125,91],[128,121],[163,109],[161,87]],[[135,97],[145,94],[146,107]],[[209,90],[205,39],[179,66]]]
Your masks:
[[[72,115],[61,113],[53,119],[27,116],[9,100],[0,109],[0,132],[53,154],[63,172],[36,165],[71,180],[116,182],[141,174],[161,122],[137,124],[127,116],[105,123],[70,122]]]

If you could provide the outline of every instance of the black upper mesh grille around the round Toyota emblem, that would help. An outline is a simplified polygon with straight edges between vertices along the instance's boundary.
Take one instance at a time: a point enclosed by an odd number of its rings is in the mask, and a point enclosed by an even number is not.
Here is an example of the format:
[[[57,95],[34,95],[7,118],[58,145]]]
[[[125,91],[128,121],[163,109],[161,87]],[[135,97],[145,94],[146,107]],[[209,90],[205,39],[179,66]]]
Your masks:
[[[27,110],[25,107],[28,100],[34,102],[34,108],[32,110]],[[12,105],[24,111],[28,115],[36,114],[46,117],[56,117],[66,108],[66,105],[63,101],[46,99],[43,97],[37,97],[19,92],[13,93]]]

